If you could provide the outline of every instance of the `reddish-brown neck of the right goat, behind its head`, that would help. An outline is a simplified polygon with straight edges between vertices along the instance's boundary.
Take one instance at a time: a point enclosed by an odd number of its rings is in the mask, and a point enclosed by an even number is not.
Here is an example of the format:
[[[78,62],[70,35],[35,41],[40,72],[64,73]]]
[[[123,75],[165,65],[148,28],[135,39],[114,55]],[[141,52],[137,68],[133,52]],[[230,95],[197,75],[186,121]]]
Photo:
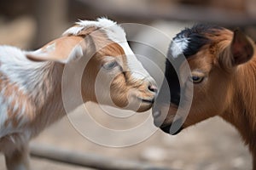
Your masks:
[[[253,154],[253,169],[256,170],[256,56],[237,68],[233,80],[233,100],[222,117],[241,133]]]

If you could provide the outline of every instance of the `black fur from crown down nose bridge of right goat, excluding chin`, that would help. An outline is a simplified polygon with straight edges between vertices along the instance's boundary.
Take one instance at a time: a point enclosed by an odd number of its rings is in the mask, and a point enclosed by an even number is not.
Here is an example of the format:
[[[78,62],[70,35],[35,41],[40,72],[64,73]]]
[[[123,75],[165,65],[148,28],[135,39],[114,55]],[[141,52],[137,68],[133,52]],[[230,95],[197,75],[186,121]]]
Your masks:
[[[220,26],[199,24],[192,28],[185,28],[183,31],[180,31],[173,40],[184,37],[189,39],[188,48],[183,51],[183,54],[187,59],[189,56],[196,54],[202,46],[210,43],[210,39],[206,37],[206,34],[210,36],[218,36],[218,30],[222,29],[223,28]],[[177,71],[181,63],[183,63],[183,59],[184,58],[181,57],[174,59],[172,57],[171,50],[168,51],[165,76],[171,93],[170,102],[175,105],[180,104],[181,87],[177,77]]]

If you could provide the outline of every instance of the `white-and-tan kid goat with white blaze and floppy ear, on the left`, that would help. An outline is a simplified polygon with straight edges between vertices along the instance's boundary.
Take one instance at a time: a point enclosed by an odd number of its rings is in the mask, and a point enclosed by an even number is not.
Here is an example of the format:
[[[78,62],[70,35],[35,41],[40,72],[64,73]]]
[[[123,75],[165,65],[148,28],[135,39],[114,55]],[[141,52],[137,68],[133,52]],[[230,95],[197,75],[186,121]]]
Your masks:
[[[80,82],[75,82],[83,100],[74,107],[98,100],[135,111],[153,105],[155,82],[131,51],[125,31],[112,20],[79,21],[36,51],[0,46],[0,150],[9,170],[29,169],[29,140],[65,116],[61,79],[67,65],[74,70],[70,83],[77,81],[77,66],[84,65]],[[96,88],[98,73],[102,77]]]

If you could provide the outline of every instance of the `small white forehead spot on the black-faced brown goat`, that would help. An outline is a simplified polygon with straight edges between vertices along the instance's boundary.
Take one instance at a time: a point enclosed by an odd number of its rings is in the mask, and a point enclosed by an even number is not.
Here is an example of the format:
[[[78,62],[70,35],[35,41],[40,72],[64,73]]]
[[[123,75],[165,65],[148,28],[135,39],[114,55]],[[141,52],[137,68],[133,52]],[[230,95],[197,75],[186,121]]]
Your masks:
[[[172,57],[177,59],[178,56],[182,55],[186,48],[189,46],[189,38],[180,37],[172,41],[172,45],[170,47]]]

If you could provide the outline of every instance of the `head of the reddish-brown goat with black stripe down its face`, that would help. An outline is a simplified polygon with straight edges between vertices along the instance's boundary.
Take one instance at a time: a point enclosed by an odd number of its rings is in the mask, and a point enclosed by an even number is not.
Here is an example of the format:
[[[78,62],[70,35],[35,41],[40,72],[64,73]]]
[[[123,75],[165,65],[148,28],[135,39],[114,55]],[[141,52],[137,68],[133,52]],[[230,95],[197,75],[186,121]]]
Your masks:
[[[241,65],[253,57],[253,51],[253,41],[241,31],[197,25],[178,33],[169,48],[169,61],[166,59],[166,88],[171,99],[165,101],[163,85],[154,108],[154,124],[166,133],[176,134],[223,114],[230,105],[232,79]],[[188,71],[184,69],[186,64],[189,74],[184,72]],[[189,111],[186,105],[191,105]],[[175,116],[177,112],[180,115]]]

